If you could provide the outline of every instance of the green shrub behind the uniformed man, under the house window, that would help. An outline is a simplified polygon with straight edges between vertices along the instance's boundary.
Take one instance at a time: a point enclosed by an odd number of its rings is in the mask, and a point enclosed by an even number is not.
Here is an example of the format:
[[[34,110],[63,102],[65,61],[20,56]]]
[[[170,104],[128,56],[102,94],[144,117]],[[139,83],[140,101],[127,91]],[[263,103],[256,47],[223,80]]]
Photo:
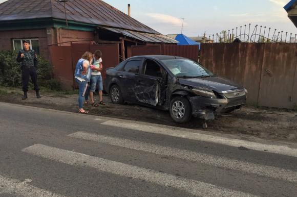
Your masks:
[[[0,84],[5,87],[22,86],[22,70],[16,62],[16,51],[0,51]],[[60,90],[60,84],[53,79],[53,68],[51,64],[41,56],[38,58],[37,78],[38,85],[45,86],[51,90]],[[29,87],[33,87],[31,81]]]

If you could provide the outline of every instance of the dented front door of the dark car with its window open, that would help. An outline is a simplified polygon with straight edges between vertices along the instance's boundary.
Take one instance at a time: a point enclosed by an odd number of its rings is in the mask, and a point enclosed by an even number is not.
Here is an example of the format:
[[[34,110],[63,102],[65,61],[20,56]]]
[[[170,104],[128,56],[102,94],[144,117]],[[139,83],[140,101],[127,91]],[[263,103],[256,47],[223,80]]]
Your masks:
[[[135,96],[138,103],[161,106],[165,101],[166,72],[155,60],[143,61],[140,75],[136,76]]]

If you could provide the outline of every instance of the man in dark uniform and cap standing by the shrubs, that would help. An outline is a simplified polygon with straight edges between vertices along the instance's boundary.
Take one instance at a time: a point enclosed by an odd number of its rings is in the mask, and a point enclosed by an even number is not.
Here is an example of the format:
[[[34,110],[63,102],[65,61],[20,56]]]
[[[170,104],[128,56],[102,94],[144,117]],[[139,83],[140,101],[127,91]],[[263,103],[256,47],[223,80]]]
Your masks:
[[[20,66],[22,68],[22,79],[23,79],[23,91],[24,96],[22,97],[23,100],[27,99],[27,92],[28,92],[28,83],[29,83],[29,77],[31,77],[31,80],[34,84],[34,90],[36,91],[36,97],[38,99],[41,98],[39,94],[39,87],[37,84],[37,55],[34,50],[30,50],[30,41],[24,40],[23,41],[23,48],[24,50],[19,50],[17,54],[16,61],[20,63]]]

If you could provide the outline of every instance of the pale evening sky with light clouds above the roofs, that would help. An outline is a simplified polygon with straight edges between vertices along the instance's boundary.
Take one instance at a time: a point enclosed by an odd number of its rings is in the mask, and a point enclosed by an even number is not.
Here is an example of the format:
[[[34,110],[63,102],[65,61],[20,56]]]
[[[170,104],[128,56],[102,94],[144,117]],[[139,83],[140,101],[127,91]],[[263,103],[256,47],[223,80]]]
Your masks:
[[[0,0],[0,3],[5,0]],[[86,0],[87,2],[87,0]],[[236,27],[270,27],[296,34],[297,28],[290,21],[283,7],[289,0],[104,0],[128,12],[131,16],[154,30],[166,34],[181,33],[187,36],[213,35]],[[236,2],[236,3],[235,3]],[[277,32],[278,32],[277,31]]]

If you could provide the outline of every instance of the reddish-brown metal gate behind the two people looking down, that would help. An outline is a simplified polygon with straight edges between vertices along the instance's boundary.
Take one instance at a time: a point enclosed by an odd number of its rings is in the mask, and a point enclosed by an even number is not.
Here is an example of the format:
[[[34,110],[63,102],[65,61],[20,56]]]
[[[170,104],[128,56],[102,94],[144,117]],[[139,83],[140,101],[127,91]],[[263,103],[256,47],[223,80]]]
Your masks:
[[[102,52],[103,71],[102,77],[105,78],[105,69],[119,64],[119,44],[72,44],[71,46],[50,46],[51,62],[54,68],[54,77],[63,89],[73,89],[74,71],[77,61],[82,54],[89,51],[94,53],[96,50]]]

